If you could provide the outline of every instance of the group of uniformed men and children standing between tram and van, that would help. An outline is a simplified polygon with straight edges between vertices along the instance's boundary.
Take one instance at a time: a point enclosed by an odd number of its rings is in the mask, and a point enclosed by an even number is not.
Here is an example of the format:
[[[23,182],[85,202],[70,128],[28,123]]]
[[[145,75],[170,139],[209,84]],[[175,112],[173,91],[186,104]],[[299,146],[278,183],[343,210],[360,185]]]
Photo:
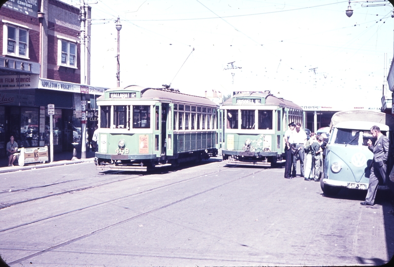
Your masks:
[[[290,123],[289,130],[285,133],[285,178],[296,177],[297,161],[299,160],[300,175],[305,181],[320,181],[323,175],[324,157],[327,142],[325,136],[310,134],[310,138],[301,124]]]

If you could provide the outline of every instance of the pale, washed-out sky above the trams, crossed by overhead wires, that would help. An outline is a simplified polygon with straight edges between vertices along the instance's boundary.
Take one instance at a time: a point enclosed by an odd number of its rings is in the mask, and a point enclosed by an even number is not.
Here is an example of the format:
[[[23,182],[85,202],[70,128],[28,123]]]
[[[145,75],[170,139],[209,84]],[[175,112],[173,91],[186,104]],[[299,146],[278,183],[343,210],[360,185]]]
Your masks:
[[[116,87],[119,17],[121,86],[167,84],[197,96],[269,90],[299,106],[381,107],[384,91],[391,98],[388,1],[351,2],[350,18],[340,0],[86,2],[94,86]]]

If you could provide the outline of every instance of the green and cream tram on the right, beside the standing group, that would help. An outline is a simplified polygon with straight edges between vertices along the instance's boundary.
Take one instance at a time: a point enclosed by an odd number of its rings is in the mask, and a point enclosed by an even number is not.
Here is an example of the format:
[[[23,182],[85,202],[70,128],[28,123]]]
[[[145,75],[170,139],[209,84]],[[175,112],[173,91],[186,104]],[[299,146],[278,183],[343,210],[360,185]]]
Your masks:
[[[221,107],[223,160],[228,165],[275,166],[284,162],[284,136],[290,122],[302,125],[303,111],[269,91],[233,92]]]

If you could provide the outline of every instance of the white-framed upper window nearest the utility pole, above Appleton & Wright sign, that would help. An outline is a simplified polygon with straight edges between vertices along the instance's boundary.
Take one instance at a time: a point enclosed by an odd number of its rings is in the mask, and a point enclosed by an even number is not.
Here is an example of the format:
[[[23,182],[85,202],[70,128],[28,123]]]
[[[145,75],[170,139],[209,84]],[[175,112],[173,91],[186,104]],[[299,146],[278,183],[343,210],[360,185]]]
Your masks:
[[[77,41],[58,36],[58,66],[77,67]]]

